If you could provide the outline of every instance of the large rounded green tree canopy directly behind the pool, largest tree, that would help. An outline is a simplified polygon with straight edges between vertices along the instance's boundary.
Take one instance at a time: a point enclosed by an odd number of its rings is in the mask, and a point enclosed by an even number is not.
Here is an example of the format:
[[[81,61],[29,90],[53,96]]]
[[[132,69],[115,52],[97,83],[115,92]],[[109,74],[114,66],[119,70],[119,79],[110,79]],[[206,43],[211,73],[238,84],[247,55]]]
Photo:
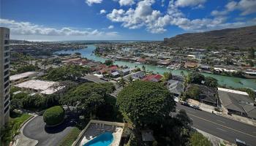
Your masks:
[[[172,94],[158,82],[137,80],[118,93],[117,105],[136,125],[159,123],[174,110]]]

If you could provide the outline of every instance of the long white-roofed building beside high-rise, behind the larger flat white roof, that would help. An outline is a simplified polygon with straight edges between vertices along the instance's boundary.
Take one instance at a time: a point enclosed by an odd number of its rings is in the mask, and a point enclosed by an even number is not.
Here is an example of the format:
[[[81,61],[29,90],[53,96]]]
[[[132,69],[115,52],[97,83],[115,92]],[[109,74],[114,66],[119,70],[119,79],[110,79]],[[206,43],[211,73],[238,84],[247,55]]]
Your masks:
[[[31,80],[33,77],[37,77],[38,72],[24,72],[22,74],[15,74],[10,76],[10,82],[12,85],[16,85],[20,82]]]

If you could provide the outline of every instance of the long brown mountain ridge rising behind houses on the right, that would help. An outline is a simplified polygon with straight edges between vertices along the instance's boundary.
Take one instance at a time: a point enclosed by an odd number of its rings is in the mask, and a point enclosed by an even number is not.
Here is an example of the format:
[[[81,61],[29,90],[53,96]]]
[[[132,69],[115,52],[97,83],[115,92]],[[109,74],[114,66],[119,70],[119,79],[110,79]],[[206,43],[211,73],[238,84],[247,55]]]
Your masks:
[[[178,34],[176,37],[165,38],[164,44],[170,45],[171,47],[199,48],[230,47],[234,49],[245,49],[256,47],[256,26]]]

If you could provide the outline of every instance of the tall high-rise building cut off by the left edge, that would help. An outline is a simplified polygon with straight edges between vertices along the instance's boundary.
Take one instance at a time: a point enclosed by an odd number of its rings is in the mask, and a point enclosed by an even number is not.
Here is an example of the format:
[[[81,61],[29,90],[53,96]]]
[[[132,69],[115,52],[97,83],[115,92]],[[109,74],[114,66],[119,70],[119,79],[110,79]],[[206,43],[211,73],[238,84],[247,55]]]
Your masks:
[[[10,29],[0,27],[0,128],[10,116]]]

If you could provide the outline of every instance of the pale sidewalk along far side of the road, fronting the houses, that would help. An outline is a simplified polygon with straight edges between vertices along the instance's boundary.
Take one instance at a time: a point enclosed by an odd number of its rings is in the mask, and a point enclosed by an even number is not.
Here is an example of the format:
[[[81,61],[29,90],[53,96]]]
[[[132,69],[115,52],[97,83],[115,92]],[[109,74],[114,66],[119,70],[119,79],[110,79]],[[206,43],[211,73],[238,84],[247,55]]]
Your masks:
[[[229,118],[229,119],[232,119],[232,120],[236,120],[236,121],[241,122],[241,123],[246,123],[246,124],[249,124],[251,126],[256,126],[256,120],[241,117],[241,116],[238,116],[238,115],[227,115],[227,111],[224,108],[222,108],[223,112],[217,112],[217,111],[214,110],[213,106],[210,106],[208,104],[203,104],[203,103],[201,103],[199,101],[196,101],[196,100],[193,100],[193,99],[188,99],[187,101],[191,105],[197,105],[203,111],[211,112],[211,113],[214,112],[216,115],[219,115],[219,116],[222,116],[222,117],[225,117],[225,118]]]

